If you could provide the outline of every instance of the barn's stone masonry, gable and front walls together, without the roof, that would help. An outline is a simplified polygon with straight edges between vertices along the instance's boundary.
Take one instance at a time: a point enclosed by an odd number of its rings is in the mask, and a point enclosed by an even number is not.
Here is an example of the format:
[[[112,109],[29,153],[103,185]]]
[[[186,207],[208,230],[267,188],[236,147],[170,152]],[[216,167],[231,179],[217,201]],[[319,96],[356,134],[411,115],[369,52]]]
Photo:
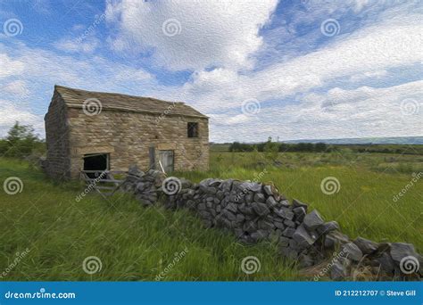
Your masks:
[[[120,98],[124,99],[125,95]],[[102,99],[98,100],[102,102]],[[110,170],[127,171],[130,164],[149,169],[152,148],[155,168],[159,168],[159,153],[171,151],[175,170],[208,169],[208,118],[192,113],[181,114],[181,111],[173,113],[174,103],[161,101],[161,106],[162,103],[169,105],[165,108],[169,111],[137,111],[114,106],[87,115],[82,103],[67,103],[58,90],[54,90],[45,118],[47,174],[51,177],[79,177],[84,156],[93,153],[109,154]],[[180,103],[178,107],[181,107]],[[187,136],[188,122],[198,123],[197,137]]]

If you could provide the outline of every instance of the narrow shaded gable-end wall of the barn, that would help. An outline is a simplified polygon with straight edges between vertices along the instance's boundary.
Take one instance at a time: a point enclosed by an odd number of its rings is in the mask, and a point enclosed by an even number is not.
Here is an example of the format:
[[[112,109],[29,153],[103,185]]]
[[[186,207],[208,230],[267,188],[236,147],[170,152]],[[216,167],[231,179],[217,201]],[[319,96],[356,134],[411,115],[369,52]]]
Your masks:
[[[67,108],[60,95],[54,92],[45,117],[46,173],[54,178],[70,177],[70,146]]]

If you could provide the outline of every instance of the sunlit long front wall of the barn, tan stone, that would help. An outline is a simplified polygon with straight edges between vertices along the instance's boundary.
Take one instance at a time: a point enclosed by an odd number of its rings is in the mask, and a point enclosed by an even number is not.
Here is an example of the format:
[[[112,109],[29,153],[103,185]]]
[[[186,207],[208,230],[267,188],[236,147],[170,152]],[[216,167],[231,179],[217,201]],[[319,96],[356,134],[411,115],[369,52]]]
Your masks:
[[[175,169],[208,169],[208,119],[153,115],[129,111],[101,111],[88,116],[81,109],[69,109],[71,128],[71,172],[78,177],[87,153],[110,153],[112,170],[128,170],[137,164],[148,169],[149,148],[174,151]],[[198,122],[200,135],[187,137],[187,122]]]

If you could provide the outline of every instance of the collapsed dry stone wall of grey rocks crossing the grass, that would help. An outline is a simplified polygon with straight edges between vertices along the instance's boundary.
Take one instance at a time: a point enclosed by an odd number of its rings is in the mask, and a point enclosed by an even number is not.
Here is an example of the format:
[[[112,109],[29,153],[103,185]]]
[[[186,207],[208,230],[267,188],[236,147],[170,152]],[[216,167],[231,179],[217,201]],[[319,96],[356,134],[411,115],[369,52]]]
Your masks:
[[[169,209],[194,210],[205,227],[232,232],[242,242],[276,242],[283,257],[297,260],[300,268],[313,269],[314,279],[419,280],[423,276],[422,256],[411,243],[375,243],[360,236],[352,240],[336,221],[325,221],[298,200],[288,202],[274,185],[213,178],[194,184],[134,166],[124,188],[145,205],[162,202]]]

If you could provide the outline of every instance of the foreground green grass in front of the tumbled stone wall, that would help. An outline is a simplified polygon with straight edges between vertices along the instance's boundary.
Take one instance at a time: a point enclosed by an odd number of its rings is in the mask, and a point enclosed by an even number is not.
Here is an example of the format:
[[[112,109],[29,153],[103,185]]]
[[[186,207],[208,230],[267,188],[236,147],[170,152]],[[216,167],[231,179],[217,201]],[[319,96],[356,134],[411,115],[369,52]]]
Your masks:
[[[76,202],[79,184],[54,185],[25,163],[0,159],[0,181],[21,177],[20,194],[0,192],[0,276],[29,248],[2,280],[154,280],[173,260],[187,254],[164,280],[294,280],[293,264],[278,258],[271,243],[247,246],[232,235],[205,229],[186,210],[143,208],[130,196],[105,202],[88,195]],[[253,255],[261,271],[247,276],[241,261]],[[103,268],[87,275],[82,262],[98,257]]]

